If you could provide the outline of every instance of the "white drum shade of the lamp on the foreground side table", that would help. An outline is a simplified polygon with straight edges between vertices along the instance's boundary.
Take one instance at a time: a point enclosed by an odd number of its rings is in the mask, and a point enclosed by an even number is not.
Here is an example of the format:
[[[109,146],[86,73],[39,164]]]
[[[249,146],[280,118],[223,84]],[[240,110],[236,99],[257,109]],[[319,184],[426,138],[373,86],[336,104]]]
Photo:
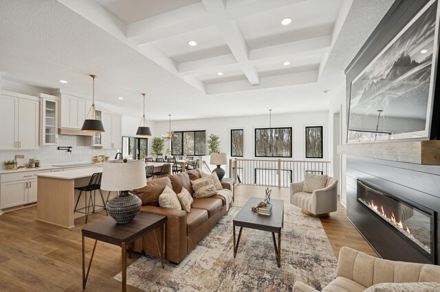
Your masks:
[[[129,191],[146,186],[143,161],[109,161],[102,165],[101,189],[103,191]]]

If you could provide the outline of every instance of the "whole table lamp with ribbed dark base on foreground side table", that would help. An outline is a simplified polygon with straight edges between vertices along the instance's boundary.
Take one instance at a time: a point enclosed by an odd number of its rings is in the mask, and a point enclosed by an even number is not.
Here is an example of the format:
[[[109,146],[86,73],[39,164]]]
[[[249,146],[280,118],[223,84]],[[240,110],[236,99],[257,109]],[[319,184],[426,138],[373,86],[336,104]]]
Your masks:
[[[129,190],[146,185],[145,163],[117,160],[102,165],[101,189],[120,191],[120,195],[107,202],[107,212],[117,223],[129,223],[140,211],[142,201]]]

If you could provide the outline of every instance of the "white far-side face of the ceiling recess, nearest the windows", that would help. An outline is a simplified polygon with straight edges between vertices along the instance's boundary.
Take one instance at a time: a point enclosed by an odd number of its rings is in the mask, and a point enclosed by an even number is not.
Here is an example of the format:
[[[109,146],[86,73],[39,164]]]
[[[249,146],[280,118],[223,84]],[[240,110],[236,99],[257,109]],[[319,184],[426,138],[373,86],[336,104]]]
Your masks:
[[[307,84],[314,82],[318,82],[318,70],[261,77],[260,85],[257,88],[253,87],[251,84],[249,84],[249,82],[245,80],[223,82],[218,84],[208,84],[206,85],[206,93],[208,95],[213,95],[218,93],[232,93],[243,90],[256,90],[262,88],[292,86],[292,85]]]

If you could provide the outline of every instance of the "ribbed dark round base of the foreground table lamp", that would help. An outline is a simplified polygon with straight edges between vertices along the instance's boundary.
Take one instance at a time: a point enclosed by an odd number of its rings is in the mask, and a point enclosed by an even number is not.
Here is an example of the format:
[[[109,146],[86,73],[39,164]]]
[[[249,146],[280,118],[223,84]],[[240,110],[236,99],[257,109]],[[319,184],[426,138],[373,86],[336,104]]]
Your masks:
[[[140,211],[142,201],[129,191],[121,191],[120,195],[107,202],[107,212],[117,223],[129,223]]]

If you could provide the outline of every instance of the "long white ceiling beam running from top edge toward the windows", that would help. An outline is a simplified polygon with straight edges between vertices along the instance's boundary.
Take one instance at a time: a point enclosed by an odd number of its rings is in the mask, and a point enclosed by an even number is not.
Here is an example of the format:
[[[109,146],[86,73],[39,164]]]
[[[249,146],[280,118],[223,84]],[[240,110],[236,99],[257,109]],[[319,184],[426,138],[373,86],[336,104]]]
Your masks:
[[[217,24],[226,44],[240,64],[250,84],[260,84],[260,77],[254,64],[249,62],[248,46],[235,21],[228,19],[225,6],[221,0],[202,0],[214,23]]]

